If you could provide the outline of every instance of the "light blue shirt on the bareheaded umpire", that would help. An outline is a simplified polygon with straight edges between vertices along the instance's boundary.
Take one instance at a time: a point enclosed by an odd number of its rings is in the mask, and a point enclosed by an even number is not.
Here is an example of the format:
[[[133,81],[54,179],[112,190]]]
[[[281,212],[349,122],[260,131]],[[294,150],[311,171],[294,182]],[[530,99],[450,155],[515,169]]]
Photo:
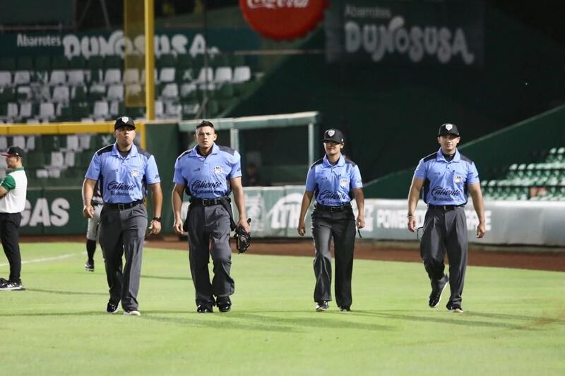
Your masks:
[[[206,157],[196,150],[198,145],[179,155],[174,163],[174,183],[186,186],[186,194],[194,198],[230,195],[230,178],[242,176],[242,157],[239,153],[215,143]]]

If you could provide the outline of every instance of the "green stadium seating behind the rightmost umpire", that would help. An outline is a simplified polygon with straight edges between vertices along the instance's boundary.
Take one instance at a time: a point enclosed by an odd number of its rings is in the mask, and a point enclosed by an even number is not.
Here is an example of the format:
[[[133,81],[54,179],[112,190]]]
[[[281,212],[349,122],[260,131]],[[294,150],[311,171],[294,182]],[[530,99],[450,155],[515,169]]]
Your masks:
[[[487,200],[565,201],[565,147],[536,153],[528,163],[481,182]]]

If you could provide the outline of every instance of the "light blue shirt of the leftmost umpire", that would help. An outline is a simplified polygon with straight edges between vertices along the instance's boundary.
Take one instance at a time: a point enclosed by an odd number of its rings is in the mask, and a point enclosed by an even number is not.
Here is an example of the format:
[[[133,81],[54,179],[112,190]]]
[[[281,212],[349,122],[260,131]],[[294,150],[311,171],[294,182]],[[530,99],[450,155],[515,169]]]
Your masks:
[[[113,204],[143,200],[147,184],[161,182],[153,155],[131,145],[122,157],[115,143],[94,153],[85,178],[99,180],[102,200]]]

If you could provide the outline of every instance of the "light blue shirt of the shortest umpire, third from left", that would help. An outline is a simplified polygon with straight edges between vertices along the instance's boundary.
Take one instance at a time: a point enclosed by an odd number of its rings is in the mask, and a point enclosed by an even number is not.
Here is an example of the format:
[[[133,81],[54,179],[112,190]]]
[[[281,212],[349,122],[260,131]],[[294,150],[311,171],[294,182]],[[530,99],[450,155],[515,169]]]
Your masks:
[[[314,192],[316,202],[324,206],[342,206],[352,200],[352,189],[363,188],[359,166],[340,155],[335,165],[328,155],[314,162],[308,170],[306,190]]]

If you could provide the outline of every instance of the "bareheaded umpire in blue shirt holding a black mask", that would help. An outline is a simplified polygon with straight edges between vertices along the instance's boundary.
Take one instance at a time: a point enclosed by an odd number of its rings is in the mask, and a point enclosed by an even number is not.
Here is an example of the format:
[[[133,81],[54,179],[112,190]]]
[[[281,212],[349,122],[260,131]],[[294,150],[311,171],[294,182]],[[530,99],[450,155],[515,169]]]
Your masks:
[[[234,280],[230,277],[230,231],[239,226],[250,232],[246,222],[241,157],[230,147],[216,145],[216,138],[218,134],[213,123],[201,121],[196,126],[198,145],[182,153],[174,164],[174,232],[182,234],[184,230],[189,233],[190,270],[198,313],[212,313],[214,305],[218,305],[220,312],[231,309]],[[233,221],[228,197],[232,190],[239,212],[237,225]],[[183,224],[181,206],[184,192],[190,196],[190,206]],[[208,272],[210,254],[214,264],[211,284]]]

